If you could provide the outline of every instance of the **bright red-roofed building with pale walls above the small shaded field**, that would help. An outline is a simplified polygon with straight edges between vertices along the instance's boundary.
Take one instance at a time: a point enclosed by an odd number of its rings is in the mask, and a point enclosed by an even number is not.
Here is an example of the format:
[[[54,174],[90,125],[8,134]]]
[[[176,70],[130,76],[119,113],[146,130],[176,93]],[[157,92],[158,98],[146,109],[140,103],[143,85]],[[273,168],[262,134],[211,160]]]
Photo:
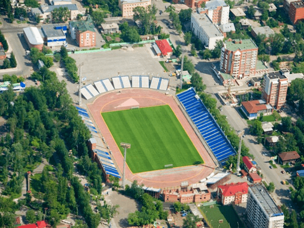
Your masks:
[[[217,187],[217,199],[222,205],[245,203],[247,198],[247,182],[229,183]]]

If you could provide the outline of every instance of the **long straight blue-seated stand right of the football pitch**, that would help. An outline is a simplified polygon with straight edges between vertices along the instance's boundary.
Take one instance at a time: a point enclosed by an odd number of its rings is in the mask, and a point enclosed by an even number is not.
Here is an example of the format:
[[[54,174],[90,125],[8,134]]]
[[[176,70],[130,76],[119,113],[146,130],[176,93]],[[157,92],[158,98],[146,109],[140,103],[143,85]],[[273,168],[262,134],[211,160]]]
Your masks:
[[[236,151],[226,138],[204,103],[199,99],[194,88],[177,95],[189,117],[205,139],[216,159],[223,165]]]

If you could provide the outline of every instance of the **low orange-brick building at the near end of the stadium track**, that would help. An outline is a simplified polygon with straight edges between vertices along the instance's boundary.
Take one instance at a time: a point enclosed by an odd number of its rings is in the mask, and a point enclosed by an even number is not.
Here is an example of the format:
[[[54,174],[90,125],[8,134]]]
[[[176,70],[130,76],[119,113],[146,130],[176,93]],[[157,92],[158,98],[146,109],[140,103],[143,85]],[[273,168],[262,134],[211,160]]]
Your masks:
[[[187,181],[180,187],[163,190],[165,202],[199,203],[209,201],[211,193],[204,183],[188,185]]]

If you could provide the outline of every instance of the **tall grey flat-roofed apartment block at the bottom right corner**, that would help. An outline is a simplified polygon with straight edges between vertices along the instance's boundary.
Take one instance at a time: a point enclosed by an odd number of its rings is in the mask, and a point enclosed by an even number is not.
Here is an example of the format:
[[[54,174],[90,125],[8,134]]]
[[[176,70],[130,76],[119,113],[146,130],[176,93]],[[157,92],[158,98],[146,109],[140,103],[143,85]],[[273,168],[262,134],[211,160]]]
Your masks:
[[[248,188],[247,219],[253,228],[283,228],[284,214],[262,185]]]

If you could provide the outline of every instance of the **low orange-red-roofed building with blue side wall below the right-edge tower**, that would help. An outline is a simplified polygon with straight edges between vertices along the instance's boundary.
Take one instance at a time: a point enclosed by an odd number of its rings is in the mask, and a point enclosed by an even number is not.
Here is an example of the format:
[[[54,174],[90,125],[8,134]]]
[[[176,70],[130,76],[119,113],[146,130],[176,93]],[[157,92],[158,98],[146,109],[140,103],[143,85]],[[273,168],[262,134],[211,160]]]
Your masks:
[[[263,116],[272,115],[273,106],[266,104],[263,100],[249,100],[241,103],[241,109],[249,120],[256,119],[263,113]]]

